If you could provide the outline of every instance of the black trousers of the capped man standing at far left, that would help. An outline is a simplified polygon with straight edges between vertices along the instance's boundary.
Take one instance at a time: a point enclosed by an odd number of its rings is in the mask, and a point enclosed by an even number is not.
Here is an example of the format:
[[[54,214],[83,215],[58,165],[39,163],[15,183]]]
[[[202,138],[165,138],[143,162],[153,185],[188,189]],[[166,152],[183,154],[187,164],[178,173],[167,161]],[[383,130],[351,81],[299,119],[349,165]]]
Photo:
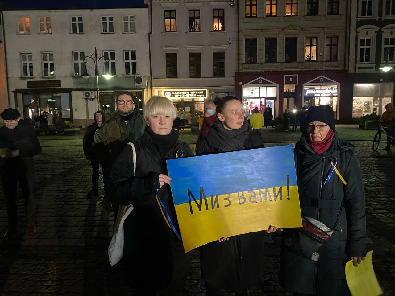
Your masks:
[[[22,196],[26,212],[27,223],[34,222],[34,197],[33,197],[33,157],[23,157],[22,167],[15,168],[14,172],[8,172],[1,176],[4,197],[6,198],[8,226],[15,227],[18,221],[17,215],[17,185],[21,186]]]

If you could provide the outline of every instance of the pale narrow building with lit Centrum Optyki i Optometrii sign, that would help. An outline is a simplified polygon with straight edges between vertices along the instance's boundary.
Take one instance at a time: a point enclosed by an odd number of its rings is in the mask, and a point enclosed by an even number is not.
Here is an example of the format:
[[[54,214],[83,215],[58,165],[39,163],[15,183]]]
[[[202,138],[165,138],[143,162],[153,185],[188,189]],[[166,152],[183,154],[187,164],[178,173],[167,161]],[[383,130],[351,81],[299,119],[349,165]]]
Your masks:
[[[193,125],[207,99],[234,95],[235,9],[230,1],[151,3],[153,94],[169,97]]]

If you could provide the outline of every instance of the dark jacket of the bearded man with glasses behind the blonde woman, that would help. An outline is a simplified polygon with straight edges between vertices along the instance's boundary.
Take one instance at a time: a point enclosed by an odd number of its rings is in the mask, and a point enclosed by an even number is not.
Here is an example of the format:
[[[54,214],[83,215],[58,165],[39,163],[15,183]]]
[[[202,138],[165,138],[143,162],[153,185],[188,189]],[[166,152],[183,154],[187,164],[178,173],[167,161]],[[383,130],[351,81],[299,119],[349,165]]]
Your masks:
[[[137,111],[128,121],[123,120],[119,112],[114,112],[94,135],[92,147],[96,159],[101,165],[111,168],[126,144],[143,135],[145,126],[143,116]]]

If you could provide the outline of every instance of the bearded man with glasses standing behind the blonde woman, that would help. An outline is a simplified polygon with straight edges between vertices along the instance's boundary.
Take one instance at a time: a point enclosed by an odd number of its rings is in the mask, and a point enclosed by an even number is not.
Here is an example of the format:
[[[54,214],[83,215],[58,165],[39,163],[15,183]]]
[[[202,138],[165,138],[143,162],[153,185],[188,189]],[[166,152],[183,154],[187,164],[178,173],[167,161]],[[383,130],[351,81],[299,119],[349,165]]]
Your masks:
[[[94,135],[92,148],[94,155],[108,174],[115,159],[128,142],[141,137],[145,129],[145,120],[138,111],[130,92],[121,92],[117,96],[117,112],[100,126]],[[108,178],[103,178],[108,180]],[[107,191],[107,182],[104,184]],[[114,209],[115,210],[115,209]]]

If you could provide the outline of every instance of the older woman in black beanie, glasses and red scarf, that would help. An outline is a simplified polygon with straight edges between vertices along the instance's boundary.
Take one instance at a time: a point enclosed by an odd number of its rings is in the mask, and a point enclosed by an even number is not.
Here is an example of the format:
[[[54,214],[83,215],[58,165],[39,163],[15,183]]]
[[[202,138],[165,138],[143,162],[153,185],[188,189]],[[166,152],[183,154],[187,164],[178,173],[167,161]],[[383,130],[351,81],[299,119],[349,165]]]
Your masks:
[[[306,249],[306,242],[293,239],[300,230],[284,229],[280,282],[294,296],[349,295],[343,262],[351,259],[357,267],[366,255],[365,192],[359,161],[354,145],[339,139],[330,106],[310,107],[305,128],[295,145],[301,213],[310,221],[320,221],[333,234],[307,258],[297,252]]]

